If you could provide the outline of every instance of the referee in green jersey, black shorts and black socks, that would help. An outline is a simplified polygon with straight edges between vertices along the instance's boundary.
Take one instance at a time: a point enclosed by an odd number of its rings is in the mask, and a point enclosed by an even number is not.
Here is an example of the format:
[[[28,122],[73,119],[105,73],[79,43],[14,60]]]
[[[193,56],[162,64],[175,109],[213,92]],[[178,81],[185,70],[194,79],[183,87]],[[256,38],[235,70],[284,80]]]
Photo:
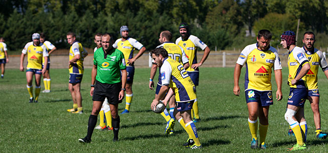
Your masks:
[[[88,133],[85,138],[78,139],[82,143],[90,143],[93,129],[97,123],[97,116],[107,97],[112,114],[112,125],[114,139],[118,141],[119,116],[117,107],[124,98],[125,86],[127,82],[127,70],[124,55],[113,48],[114,39],[111,34],[104,34],[101,37],[103,47],[94,53],[93,68],[91,72],[90,95],[93,100],[92,112],[88,122]]]

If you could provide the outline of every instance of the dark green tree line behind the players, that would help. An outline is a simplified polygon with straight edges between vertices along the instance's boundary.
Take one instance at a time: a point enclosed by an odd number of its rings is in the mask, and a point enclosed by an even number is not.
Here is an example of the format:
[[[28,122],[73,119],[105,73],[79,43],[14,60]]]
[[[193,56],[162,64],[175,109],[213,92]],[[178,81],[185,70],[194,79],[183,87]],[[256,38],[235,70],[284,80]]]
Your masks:
[[[213,50],[243,48],[256,42],[260,29],[272,32],[271,44],[279,45],[283,31],[296,32],[298,45],[303,32],[317,34],[316,47],[327,47],[328,2],[324,0],[2,0],[0,37],[10,50],[20,50],[35,32],[44,32],[57,48],[69,48],[67,32],[74,32],[85,47],[95,47],[95,33],[120,37],[121,25],[130,36],[151,49],[158,35],[169,30],[179,37],[178,24],[187,22],[191,33]],[[173,40],[173,41],[174,41]]]

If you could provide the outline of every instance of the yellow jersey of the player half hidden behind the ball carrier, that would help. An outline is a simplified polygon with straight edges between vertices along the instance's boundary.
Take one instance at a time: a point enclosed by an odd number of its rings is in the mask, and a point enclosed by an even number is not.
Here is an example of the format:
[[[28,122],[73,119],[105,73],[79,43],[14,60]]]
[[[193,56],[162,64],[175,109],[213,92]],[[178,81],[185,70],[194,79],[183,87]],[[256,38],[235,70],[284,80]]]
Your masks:
[[[174,44],[173,42],[164,42],[161,45],[157,46],[156,48],[159,48],[159,47],[163,47],[163,48],[166,49],[166,51],[169,54],[169,58],[171,58],[171,59],[173,59],[173,60],[175,60],[175,61],[177,61],[181,64],[186,64],[186,63],[189,62],[183,48],[176,45],[176,44]],[[154,63],[154,61],[153,61],[153,63]],[[158,69],[158,71],[160,72],[160,68]],[[160,86],[162,84],[160,75],[158,75],[157,84],[160,85]]]

